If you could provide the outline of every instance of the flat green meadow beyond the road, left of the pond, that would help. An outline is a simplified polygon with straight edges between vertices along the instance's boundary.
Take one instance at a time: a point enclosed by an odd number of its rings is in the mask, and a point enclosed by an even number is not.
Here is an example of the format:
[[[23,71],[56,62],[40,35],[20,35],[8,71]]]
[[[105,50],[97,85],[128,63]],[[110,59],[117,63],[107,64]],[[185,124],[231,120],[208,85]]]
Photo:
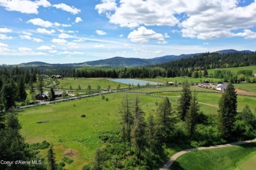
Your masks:
[[[92,89],[96,89],[98,85],[100,89],[106,89],[108,86],[110,86],[111,89],[116,89],[118,84],[121,85],[121,88],[128,88],[127,84],[113,82],[108,80],[108,78],[63,78],[58,79],[58,81],[60,84],[58,84],[56,88],[63,87],[66,90],[70,90],[70,86],[72,86],[73,90],[76,90],[79,84],[82,90],[86,90],[89,84],[91,84]]]

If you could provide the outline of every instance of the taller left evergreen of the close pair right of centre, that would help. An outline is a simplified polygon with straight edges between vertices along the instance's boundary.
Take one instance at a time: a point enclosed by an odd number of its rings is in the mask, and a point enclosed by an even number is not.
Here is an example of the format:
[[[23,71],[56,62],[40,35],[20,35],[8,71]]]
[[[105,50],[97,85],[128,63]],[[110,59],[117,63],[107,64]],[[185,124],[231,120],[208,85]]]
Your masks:
[[[181,97],[179,98],[178,114],[181,120],[185,120],[185,116],[188,112],[190,101],[191,101],[191,91],[188,81],[183,82]]]

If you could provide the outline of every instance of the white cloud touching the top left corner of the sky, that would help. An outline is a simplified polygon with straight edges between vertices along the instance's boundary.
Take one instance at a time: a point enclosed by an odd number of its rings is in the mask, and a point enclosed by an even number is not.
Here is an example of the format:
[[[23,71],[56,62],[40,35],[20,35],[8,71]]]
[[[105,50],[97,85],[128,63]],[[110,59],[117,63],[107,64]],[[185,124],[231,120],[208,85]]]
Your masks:
[[[51,7],[51,3],[47,0],[28,1],[28,0],[1,0],[0,6],[5,7],[6,10],[18,11],[26,14],[38,14],[38,8],[43,6],[45,8]]]

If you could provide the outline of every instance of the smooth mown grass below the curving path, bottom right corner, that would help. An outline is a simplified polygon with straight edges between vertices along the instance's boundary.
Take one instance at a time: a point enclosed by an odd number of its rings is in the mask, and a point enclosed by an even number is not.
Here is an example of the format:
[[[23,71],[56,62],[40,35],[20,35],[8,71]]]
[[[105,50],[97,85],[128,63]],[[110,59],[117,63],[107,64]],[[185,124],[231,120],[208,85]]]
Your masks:
[[[177,158],[170,169],[255,169],[256,143],[198,150]]]

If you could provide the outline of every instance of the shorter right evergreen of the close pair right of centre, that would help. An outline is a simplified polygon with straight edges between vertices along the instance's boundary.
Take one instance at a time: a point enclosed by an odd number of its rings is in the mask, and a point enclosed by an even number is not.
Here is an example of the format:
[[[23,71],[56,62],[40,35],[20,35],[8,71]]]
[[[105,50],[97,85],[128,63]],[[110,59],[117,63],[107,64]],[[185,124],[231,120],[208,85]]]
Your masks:
[[[199,105],[196,97],[196,92],[192,96],[190,107],[188,109],[188,113],[185,117],[186,129],[188,131],[188,135],[191,137],[194,134],[196,124],[198,122],[198,111]]]

